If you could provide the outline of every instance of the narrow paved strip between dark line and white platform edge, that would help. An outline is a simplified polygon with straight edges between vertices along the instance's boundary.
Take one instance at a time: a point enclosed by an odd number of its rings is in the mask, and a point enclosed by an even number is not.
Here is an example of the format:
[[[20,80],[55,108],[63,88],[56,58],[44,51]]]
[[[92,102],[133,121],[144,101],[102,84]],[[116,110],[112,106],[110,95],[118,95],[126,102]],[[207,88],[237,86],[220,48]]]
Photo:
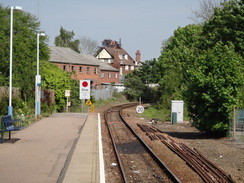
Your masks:
[[[89,114],[63,183],[98,183],[100,181],[97,121],[97,114]]]

